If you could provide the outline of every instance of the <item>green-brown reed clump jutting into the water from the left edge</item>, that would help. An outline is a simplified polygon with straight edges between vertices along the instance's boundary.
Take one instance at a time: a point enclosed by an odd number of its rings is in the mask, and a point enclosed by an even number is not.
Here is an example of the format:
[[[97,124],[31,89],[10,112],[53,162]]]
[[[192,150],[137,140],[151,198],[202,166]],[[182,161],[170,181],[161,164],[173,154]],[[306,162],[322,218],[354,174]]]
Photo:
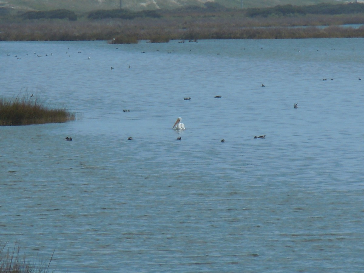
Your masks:
[[[33,96],[13,100],[0,98],[0,126],[67,122],[75,120],[75,116],[66,108],[46,107]]]

